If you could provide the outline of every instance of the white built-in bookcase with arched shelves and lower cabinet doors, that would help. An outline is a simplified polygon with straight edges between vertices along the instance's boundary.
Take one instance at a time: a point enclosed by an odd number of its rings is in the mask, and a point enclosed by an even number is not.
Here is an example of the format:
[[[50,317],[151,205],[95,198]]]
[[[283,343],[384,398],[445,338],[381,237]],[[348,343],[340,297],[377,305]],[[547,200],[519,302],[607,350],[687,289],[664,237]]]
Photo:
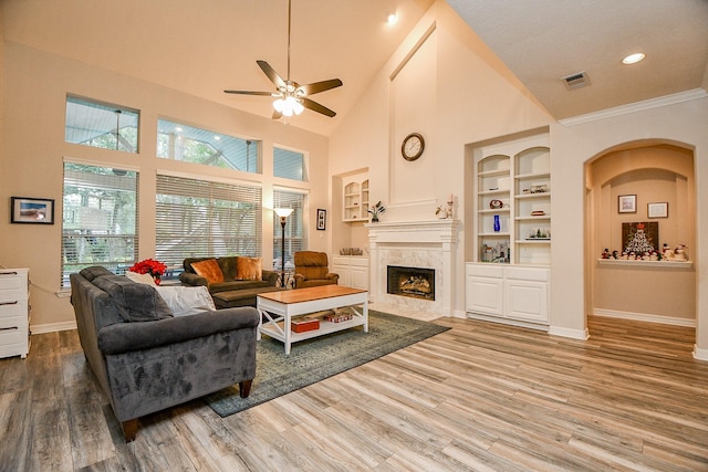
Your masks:
[[[472,260],[466,310],[529,325],[550,322],[551,153],[549,135],[473,149]]]

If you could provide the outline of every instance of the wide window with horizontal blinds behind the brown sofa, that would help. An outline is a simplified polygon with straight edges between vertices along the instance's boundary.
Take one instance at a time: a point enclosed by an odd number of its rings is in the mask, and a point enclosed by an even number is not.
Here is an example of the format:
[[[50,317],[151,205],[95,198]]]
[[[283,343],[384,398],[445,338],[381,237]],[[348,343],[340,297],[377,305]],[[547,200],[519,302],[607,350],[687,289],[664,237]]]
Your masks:
[[[261,255],[262,190],[157,176],[156,258],[169,275],[185,258]]]

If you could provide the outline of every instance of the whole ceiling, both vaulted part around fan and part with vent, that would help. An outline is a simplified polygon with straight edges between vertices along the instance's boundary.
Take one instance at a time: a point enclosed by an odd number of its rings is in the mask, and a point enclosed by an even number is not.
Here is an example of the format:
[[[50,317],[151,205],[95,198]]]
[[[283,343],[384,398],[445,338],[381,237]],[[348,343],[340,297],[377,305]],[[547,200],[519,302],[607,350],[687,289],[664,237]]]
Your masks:
[[[339,77],[293,126],[329,135],[435,0],[293,0],[291,78]],[[447,0],[556,118],[708,84],[707,0]],[[288,0],[1,0],[6,41],[270,117],[256,64],[287,75]],[[396,11],[395,27],[385,23]],[[641,50],[645,61],[623,66]],[[585,71],[572,92],[560,77]],[[132,104],[122,104],[129,106]],[[296,119],[296,123],[294,123]]]

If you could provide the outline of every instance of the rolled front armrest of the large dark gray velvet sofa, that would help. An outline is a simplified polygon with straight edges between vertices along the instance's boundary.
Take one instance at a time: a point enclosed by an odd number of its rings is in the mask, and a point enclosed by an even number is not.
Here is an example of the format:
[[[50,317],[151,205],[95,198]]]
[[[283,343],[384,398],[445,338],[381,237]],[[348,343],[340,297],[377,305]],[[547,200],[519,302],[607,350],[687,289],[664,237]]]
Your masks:
[[[98,332],[98,348],[104,355],[149,349],[217,333],[256,328],[258,310],[246,306],[205,312],[155,322],[117,323]]]

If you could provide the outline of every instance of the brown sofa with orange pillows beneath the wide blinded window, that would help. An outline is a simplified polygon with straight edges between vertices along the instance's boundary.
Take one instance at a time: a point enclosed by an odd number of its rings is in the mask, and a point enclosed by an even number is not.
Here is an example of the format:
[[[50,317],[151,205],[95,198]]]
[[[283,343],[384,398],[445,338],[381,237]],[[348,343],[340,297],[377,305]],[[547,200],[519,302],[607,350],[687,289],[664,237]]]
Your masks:
[[[223,275],[223,282],[210,284],[206,277],[198,275],[191,266],[195,262],[216,259]],[[262,271],[261,280],[237,280],[238,255],[221,258],[187,258],[183,262],[185,271],[179,274],[184,285],[205,285],[214,298],[217,308],[232,308],[236,306],[256,306],[259,293],[284,290],[278,286],[278,272]]]

